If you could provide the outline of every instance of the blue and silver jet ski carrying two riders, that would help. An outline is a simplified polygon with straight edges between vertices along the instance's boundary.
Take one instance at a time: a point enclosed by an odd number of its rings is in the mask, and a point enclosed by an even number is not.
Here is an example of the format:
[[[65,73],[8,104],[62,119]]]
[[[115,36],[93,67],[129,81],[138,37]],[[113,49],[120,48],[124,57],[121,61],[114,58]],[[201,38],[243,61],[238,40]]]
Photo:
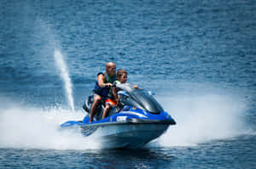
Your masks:
[[[143,147],[160,137],[176,121],[154,99],[153,92],[134,88],[129,83],[117,84],[118,107],[113,107],[107,118],[102,119],[104,105],[98,106],[94,121],[90,121],[93,95],[85,100],[84,110],[88,113],[83,121],[67,121],[61,128],[79,128],[84,137],[96,137],[102,147],[110,149]]]

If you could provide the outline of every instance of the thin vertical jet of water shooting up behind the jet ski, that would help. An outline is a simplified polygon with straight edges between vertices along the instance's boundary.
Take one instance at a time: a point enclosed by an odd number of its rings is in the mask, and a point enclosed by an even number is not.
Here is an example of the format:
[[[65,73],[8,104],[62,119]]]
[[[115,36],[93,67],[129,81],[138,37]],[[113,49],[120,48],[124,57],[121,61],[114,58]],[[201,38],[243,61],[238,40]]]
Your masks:
[[[63,54],[58,49],[55,49],[55,65],[60,69],[60,76],[65,84],[65,91],[67,95],[68,104],[74,111],[73,95],[72,95],[72,82],[68,76],[67,65],[63,59]]]

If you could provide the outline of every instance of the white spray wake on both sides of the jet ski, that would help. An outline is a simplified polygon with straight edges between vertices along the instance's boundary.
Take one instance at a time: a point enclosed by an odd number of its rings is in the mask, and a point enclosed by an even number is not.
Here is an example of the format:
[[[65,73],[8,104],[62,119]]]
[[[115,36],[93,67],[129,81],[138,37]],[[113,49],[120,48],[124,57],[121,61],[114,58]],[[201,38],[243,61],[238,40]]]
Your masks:
[[[195,146],[218,139],[252,134],[244,113],[247,105],[230,96],[172,96],[157,98],[177,121],[150,146]],[[18,104],[0,106],[0,148],[15,149],[102,149],[94,138],[80,131],[61,130],[65,121],[80,121],[82,110],[39,109]]]

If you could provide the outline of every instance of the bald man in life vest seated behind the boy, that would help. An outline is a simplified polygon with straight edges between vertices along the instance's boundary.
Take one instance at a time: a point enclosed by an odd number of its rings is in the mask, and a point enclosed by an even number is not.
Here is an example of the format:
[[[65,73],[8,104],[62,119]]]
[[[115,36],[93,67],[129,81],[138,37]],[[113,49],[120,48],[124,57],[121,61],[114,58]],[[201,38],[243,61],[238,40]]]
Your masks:
[[[97,74],[96,84],[93,92],[94,102],[90,109],[90,121],[93,121],[93,117],[96,114],[96,110],[99,104],[102,104],[102,99],[107,99],[110,93],[110,87],[116,80],[116,65],[113,62],[106,64],[106,71]]]

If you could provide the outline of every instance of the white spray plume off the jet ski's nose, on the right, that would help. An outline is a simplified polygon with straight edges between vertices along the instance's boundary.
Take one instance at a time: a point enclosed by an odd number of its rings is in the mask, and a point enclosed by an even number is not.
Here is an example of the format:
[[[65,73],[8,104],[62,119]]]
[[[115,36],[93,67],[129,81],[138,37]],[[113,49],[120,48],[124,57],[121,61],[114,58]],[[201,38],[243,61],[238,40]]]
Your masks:
[[[159,100],[177,121],[159,138],[162,146],[191,146],[251,132],[242,118],[246,104],[239,99],[211,94]]]

